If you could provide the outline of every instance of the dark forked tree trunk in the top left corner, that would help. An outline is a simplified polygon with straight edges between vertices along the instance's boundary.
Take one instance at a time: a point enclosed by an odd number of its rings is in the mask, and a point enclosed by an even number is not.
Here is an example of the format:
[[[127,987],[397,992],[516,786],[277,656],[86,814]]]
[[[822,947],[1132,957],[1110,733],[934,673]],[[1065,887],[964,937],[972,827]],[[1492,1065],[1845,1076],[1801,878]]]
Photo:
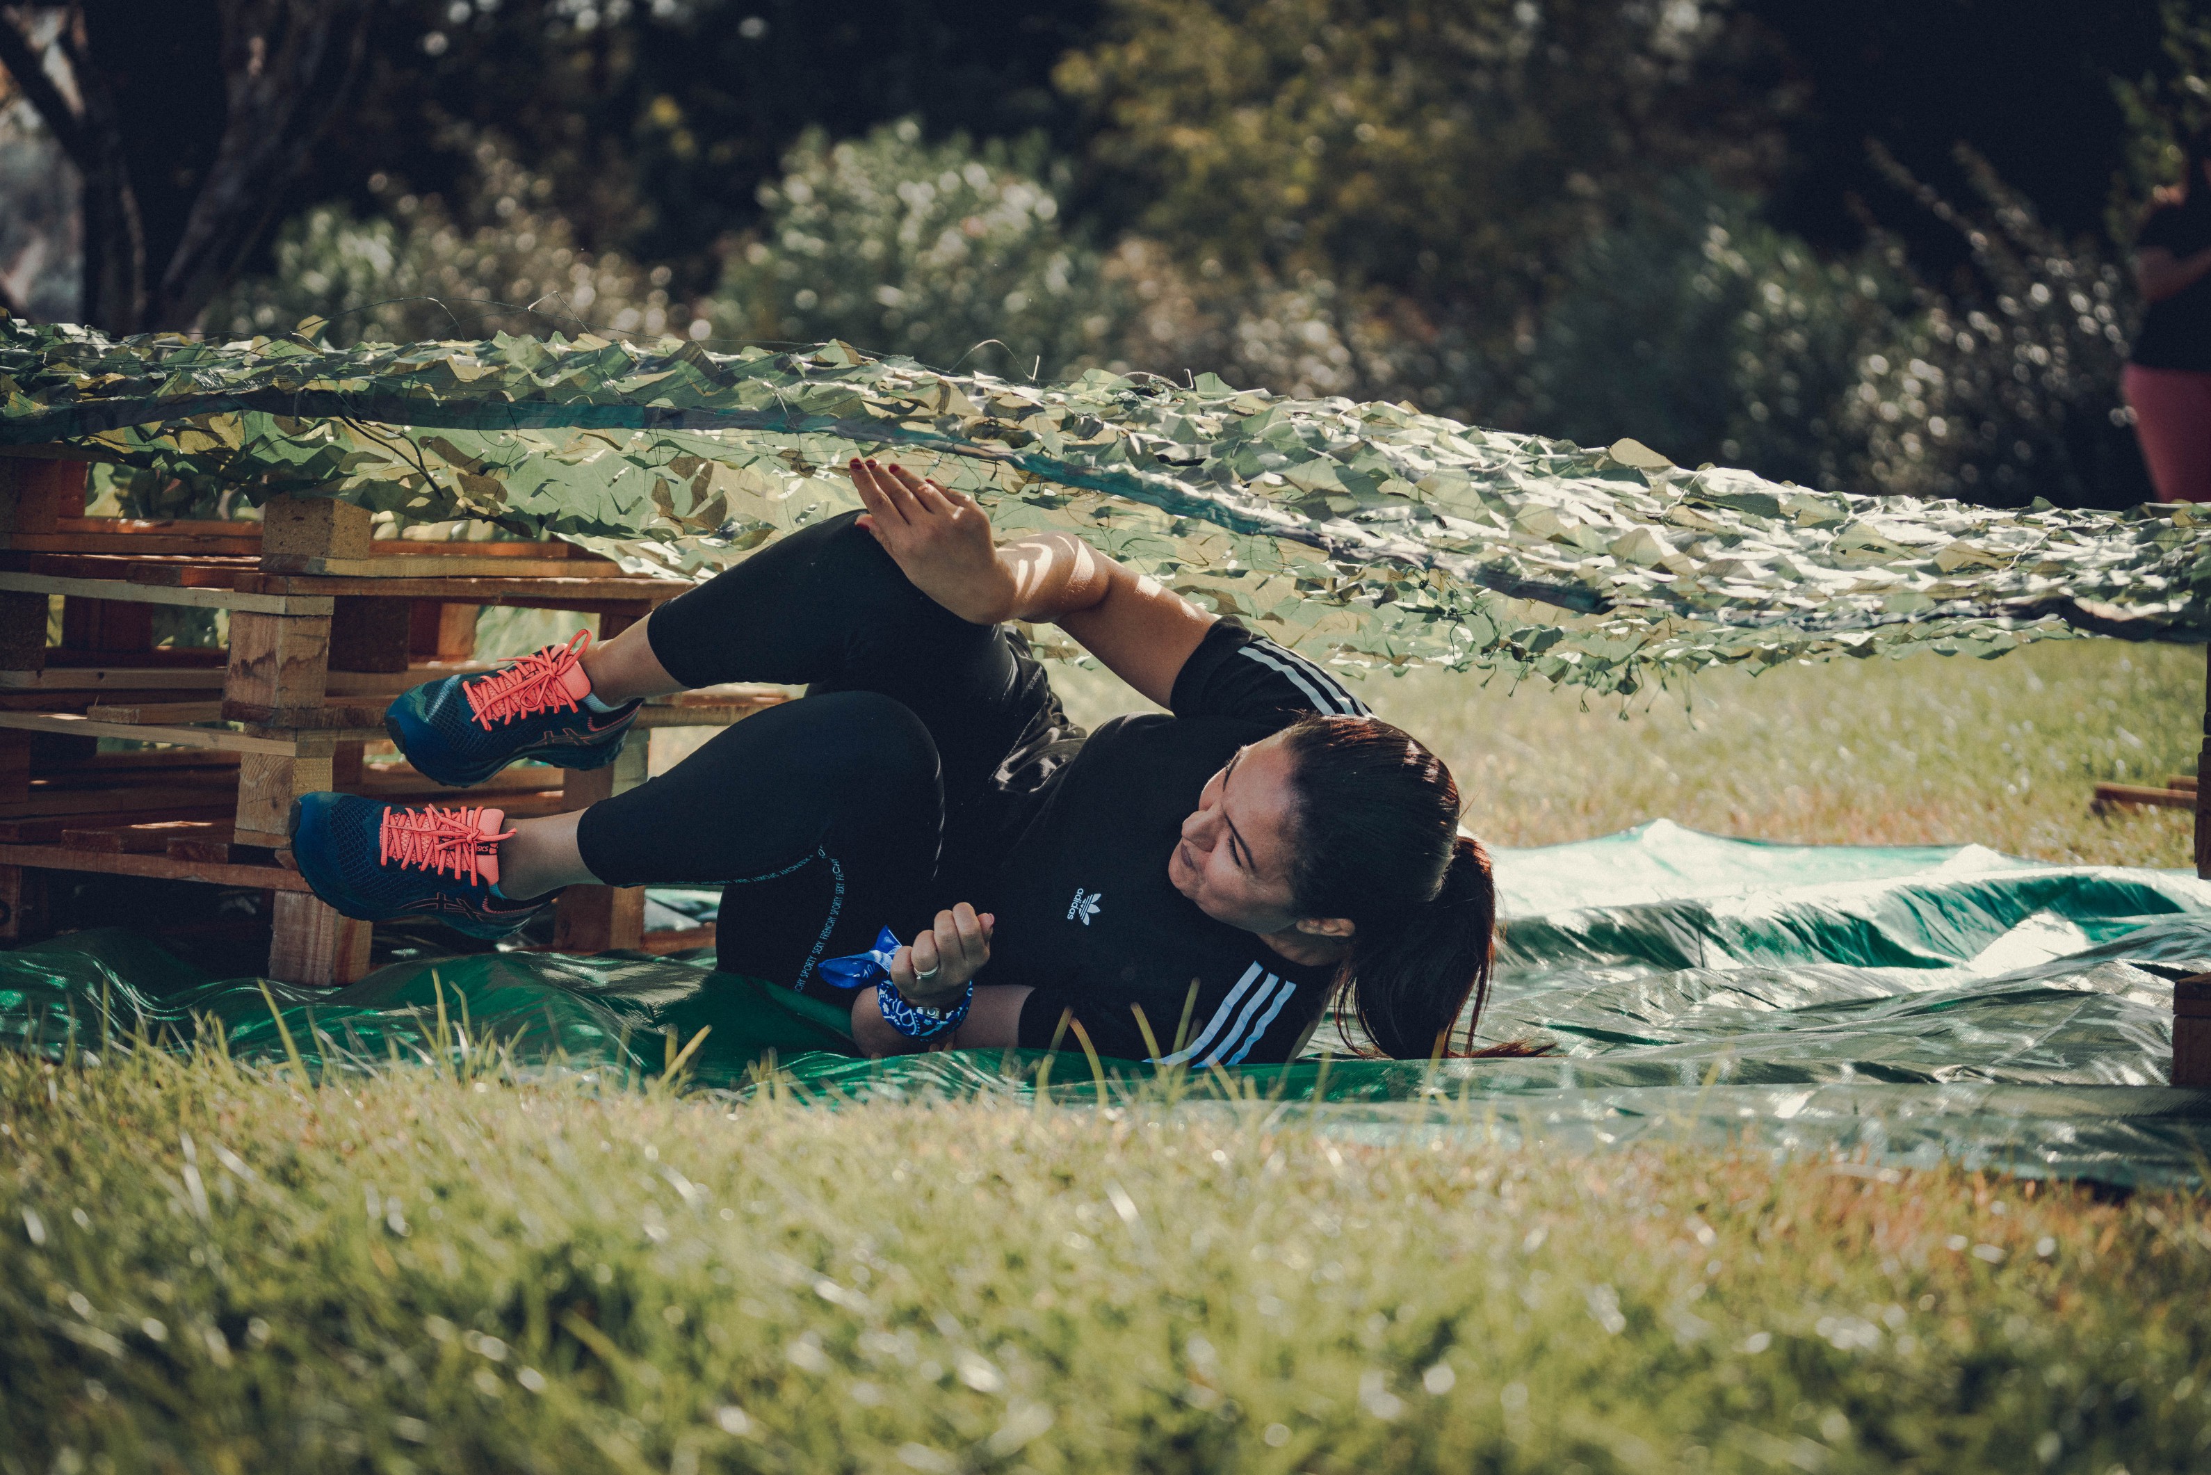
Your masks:
[[[190,327],[307,172],[371,0],[0,9],[0,66],[75,164],[82,321]]]

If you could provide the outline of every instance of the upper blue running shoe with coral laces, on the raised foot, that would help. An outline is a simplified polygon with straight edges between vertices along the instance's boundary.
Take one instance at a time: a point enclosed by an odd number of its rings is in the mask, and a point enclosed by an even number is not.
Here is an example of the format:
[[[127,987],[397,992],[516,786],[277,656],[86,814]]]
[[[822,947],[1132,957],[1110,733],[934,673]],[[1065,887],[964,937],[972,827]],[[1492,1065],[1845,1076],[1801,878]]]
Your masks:
[[[641,701],[595,712],[581,657],[590,630],[497,670],[425,681],[385,708],[385,732],[416,772],[442,785],[482,783],[517,759],[555,767],[606,767]]]

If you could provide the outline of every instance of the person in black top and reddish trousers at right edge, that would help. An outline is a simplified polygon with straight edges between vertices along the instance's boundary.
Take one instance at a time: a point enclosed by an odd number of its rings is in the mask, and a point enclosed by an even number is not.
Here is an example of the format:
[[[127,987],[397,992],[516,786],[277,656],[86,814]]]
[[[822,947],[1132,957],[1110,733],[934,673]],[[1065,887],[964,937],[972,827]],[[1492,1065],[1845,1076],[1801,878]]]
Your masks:
[[[2211,128],[2142,221],[2134,279],[2149,312],[2123,387],[2149,480],[2162,502],[2211,502]]]

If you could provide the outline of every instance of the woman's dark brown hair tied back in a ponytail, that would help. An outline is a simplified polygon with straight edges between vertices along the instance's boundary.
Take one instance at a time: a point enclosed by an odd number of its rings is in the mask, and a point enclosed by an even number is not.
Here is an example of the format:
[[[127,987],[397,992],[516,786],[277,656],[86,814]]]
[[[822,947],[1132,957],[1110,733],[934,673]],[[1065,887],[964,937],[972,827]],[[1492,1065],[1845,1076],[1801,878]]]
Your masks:
[[[1395,1059],[1453,1055],[1450,1031],[1490,986],[1497,887],[1481,843],[1459,834],[1459,785],[1442,759],[1375,716],[1307,716],[1291,756],[1289,889],[1302,916],[1349,918],[1338,988]],[[1346,1037],[1349,1044],[1349,1037]]]

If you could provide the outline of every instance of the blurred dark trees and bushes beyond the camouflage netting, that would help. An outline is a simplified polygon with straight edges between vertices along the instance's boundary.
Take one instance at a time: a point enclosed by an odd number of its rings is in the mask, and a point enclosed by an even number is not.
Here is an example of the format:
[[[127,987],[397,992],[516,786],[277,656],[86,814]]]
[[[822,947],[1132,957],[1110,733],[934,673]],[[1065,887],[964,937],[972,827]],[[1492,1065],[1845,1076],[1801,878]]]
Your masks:
[[[2207,77],[2178,0],[405,0],[199,329],[1212,369],[2123,506],[2127,245]]]

